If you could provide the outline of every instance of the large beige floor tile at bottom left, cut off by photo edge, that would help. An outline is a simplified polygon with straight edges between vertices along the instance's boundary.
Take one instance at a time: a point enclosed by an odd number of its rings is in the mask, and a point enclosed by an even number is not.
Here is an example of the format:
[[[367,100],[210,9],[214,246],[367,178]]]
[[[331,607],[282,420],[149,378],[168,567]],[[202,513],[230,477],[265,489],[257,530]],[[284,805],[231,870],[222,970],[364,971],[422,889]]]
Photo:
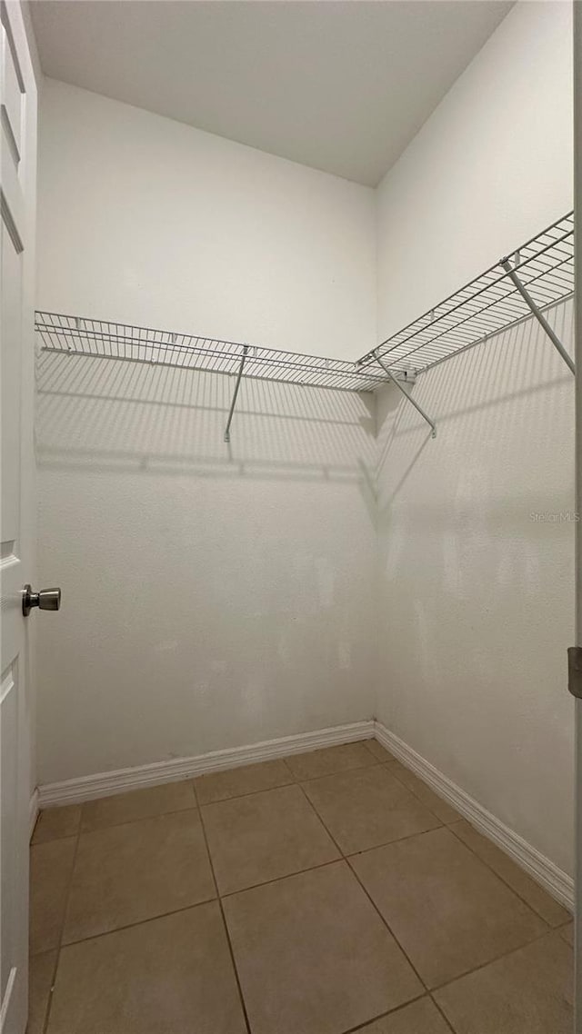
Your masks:
[[[244,1034],[217,903],[63,948],[49,1034]]]

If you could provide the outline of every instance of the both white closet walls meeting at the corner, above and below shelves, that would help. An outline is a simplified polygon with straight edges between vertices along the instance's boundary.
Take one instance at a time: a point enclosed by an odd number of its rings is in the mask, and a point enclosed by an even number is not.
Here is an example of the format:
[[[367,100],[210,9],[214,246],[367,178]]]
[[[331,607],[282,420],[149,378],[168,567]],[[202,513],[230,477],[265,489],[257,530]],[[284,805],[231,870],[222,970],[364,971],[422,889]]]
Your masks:
[[[381,184],[379,337],[572,207],[570,25],[518,4]],[[354,357],[371,204],[49,83],[39,306]],[[435,442],[390,389],[376,443],[361,399],[246,384],[230,454],[230,386],[40,363],[40,782],[366,718],[379,655],[380,720],[570,869],[573,529],[530,519],[573,507],[551,346],[526,324],[419,378]]]

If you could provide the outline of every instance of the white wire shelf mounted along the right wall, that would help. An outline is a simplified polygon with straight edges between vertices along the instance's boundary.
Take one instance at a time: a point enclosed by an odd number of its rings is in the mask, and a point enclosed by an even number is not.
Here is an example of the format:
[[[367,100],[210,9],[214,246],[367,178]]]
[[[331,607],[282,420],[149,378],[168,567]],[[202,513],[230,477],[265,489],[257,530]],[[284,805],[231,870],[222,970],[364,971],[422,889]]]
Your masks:
[[[358,360],[360,369],[379,356],[391,370],[420,373],[464,348],[531,316],[511,278],[517,273],[541,310],[574,293],[574,213],[570,212],[518,248],[511,271],[501,258],[433,309]]]

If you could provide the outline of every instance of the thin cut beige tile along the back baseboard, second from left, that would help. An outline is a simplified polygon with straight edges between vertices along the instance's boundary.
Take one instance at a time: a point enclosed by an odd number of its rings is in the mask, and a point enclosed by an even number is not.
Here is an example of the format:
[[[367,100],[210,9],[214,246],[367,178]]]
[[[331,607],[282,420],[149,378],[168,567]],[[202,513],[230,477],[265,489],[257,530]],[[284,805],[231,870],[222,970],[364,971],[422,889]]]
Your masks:
[[[86,801],[83,804],[81,829],[87,832],[105,826],[118,826],[123,822],[149,819],[154,815],[181,812],[188,808],[196,808],[191,780],[148,786],[145,790],[130,790],[128,793],[116,793],[112,797]]]

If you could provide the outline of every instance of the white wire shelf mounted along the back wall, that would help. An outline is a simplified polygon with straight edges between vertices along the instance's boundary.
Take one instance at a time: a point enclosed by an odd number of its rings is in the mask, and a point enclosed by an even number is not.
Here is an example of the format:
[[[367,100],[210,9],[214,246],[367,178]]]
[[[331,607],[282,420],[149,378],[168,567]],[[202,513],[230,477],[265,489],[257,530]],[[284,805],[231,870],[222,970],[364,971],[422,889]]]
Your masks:
[[[379,370],[363,370],[341,359],[304,356],[83,316],[36,312],[35,327],[43,349],[69,355],[226,374],[237,374],[244,357],[245,377],[336,391],[369,392],[388,379]]]

